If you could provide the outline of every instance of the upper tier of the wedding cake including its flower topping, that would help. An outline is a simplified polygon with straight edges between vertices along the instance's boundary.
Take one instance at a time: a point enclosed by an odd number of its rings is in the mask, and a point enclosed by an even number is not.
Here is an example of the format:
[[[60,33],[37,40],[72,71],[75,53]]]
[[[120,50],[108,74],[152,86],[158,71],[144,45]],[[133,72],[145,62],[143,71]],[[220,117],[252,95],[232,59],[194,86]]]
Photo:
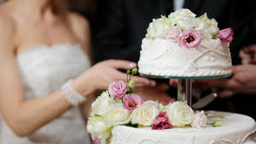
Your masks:
[[[176,77],[228,75],[232,39],[232,29],[219,31],[217,21],[207,14],[195,17],[189,9],[178,9],[149,24],[139,72]]]

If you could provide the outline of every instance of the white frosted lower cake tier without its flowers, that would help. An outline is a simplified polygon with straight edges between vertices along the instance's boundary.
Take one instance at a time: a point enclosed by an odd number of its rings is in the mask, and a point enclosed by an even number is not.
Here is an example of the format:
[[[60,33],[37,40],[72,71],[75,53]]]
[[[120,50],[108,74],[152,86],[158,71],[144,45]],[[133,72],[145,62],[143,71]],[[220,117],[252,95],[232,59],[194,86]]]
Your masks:
[[[245,115],[218,112],[224,115],[220,127],[207,126],[206,129],[174,128],[151,130],[151,128],[131,128],[116,126],[112,131],[111,144],[241,144],[253,139],[256,124]],[[218,119],[212,117],[208,123]],[[255,138],[255,137],[254,137]]]

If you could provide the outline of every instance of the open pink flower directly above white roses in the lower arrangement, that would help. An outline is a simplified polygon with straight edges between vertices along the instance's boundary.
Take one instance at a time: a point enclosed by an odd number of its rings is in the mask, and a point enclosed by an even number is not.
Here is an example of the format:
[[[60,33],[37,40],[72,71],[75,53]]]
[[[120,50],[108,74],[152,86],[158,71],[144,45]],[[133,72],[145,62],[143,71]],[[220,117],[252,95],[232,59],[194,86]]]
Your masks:
[[[128,95],[125,97],[123,106],[126,110],[132,111],[143,104],[143,99],[139,95]]]

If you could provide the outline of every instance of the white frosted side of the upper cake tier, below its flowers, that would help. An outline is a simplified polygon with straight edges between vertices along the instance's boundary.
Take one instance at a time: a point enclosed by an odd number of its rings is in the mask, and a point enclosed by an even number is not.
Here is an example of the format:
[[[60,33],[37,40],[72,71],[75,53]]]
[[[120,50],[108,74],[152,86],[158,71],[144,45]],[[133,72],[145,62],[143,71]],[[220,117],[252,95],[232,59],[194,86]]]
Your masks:
[[[172,40],[143,38],[139,72],[156,76],[198,77],[231,73],[229,43],[204,38],[192,49],[179,47]]]

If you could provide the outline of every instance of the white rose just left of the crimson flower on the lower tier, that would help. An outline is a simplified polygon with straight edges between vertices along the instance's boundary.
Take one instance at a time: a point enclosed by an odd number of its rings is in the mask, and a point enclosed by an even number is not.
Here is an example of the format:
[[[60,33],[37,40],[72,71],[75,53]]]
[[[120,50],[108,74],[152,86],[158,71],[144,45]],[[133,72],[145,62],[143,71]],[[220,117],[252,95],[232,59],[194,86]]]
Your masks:
[[[143,103],[143,105],[133,110],[133,112],[131,113],[131,123],[150,126],[151,124],[153,124],[159,112],[160,110],[157,102],[146,101]]]

